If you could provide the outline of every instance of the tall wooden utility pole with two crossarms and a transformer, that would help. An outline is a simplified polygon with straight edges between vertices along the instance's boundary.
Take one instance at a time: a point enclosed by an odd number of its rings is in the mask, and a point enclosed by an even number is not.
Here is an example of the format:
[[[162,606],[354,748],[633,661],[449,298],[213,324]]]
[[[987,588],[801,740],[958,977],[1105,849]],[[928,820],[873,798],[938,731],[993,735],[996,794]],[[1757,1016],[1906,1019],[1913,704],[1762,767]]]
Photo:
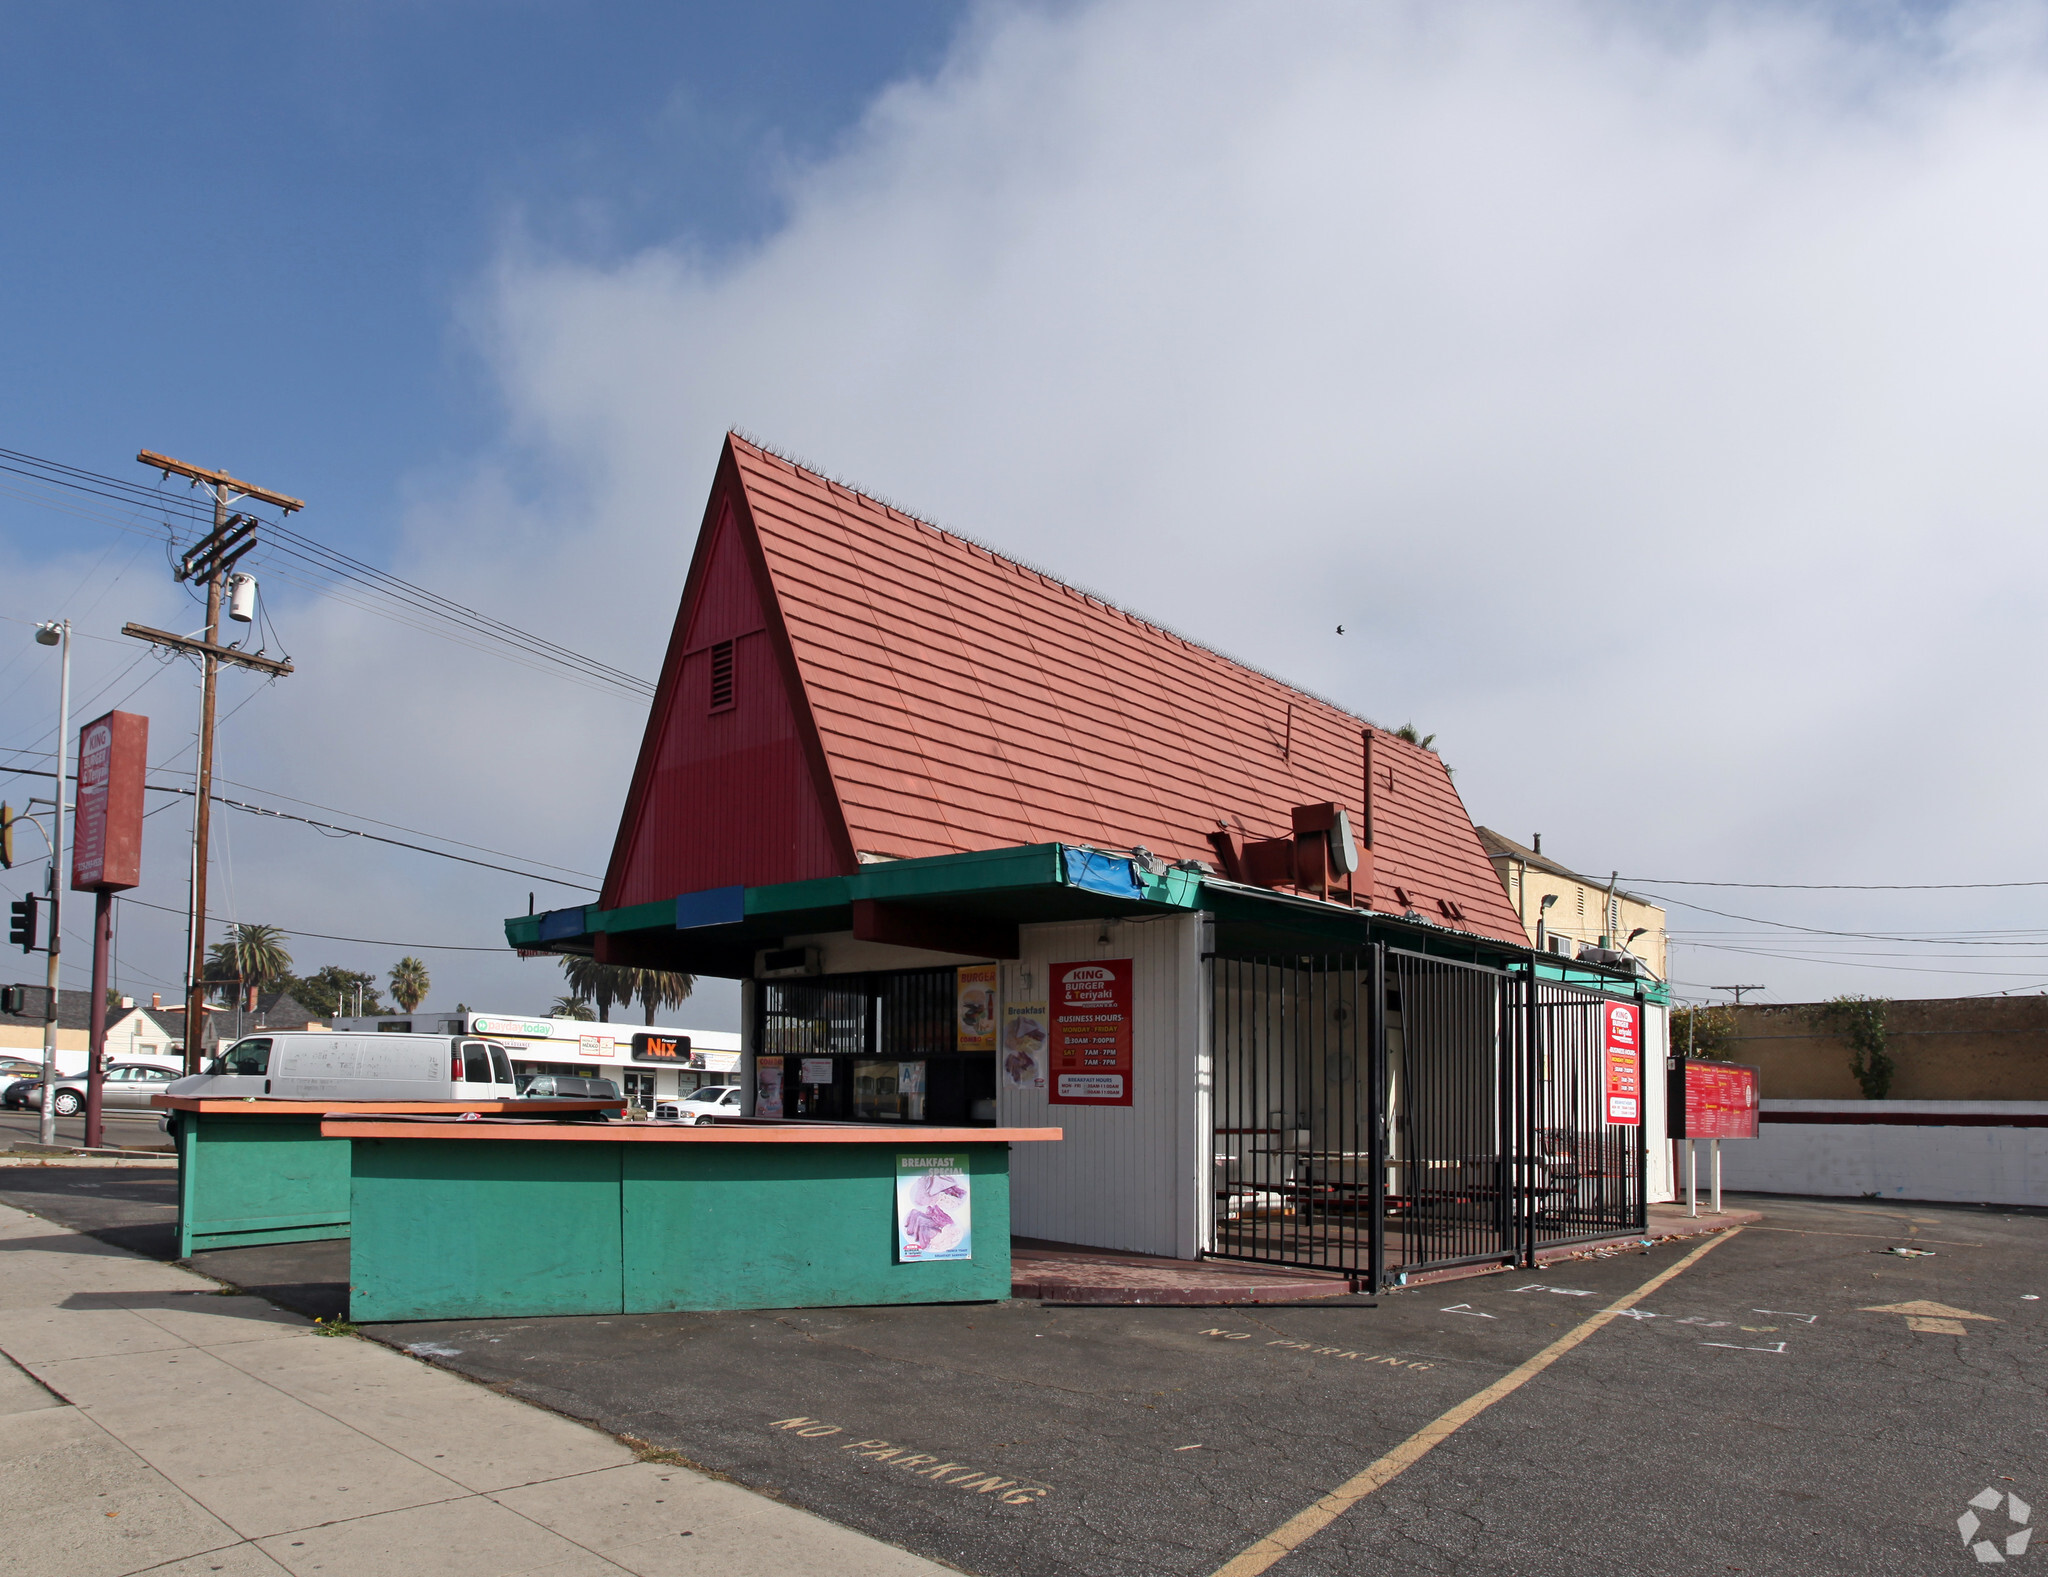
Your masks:
[[[229,494],[238,498],[254,498],[262,504],[281,508],[285,514],[303,510],[305,500],[291,498],[289,494],[274,494],[268,487],[242,481],[225,471],[207,471],[199,465],[174,461],[170,455],[158,455],[152,449],[143,449],[135,455],[135,459],[156,471],[162,471],[166,477],[176,475],[201,483],[213,496],[213,532],[186,553],[178,561],[176,569],[176,578],[180,582],[207,582],[207,639],[193,641],[190,637],[170,635],[168,631],[150,629],[147,625],[121,627],[123,635],[133,635],[141,641],[150,641],[152,645],[170,647],[172,651],[188,651],[201,659],[199,782],[197,797],[193,801],[193,897],[190,913],[186,918],[184,954],[184,1071],[199,1073],[203,1065],[201,1047],[205,1045],[207,838],[213,829],[213,713],[217,676],[223,662],[240,668],[254,668],[274,678],[291,672],[289,662],[276,662],[221,645],[221,590],[242,555],[256,547],[258,524],[254,516],[229,514],[227,500]]]

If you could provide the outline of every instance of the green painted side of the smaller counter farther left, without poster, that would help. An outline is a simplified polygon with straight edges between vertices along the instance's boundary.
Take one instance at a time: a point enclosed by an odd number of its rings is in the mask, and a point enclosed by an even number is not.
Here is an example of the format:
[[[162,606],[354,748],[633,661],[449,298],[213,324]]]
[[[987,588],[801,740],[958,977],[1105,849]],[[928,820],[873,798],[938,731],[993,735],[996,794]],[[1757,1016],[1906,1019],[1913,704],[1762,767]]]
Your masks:
[[[174,1112],[178,1255],[348,1237],[348,1143],[319,1116]]]

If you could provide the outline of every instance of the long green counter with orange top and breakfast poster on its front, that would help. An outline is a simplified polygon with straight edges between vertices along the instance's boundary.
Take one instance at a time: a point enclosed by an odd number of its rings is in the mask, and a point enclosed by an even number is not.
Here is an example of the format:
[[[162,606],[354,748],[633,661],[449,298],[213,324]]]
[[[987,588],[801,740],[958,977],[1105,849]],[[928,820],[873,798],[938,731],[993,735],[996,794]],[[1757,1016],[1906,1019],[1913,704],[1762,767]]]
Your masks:
[[[1059,1128],[330,1114],[348,1317],[1010,1296],[1010,1147]]]

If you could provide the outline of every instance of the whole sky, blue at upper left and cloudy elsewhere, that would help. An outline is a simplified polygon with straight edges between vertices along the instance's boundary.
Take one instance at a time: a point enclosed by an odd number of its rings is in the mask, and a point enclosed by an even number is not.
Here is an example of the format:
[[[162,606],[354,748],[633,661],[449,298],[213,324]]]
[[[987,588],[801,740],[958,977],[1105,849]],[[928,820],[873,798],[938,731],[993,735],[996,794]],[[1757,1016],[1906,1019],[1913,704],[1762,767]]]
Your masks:
[[[1671,905],[1681,995],[2048,989],[2042,4],[45,12],[0,449],[225,467],[651,678],[737,426],[1436,733],[1477,821]],[[156,520],[0,475],[0,764],[70,616],[74,719],[190,772],[190,670],[119,635],[201,619]],[[537,875],[223,811],[215,913],[545,1008],[500,920],[602,870],[645,700],[256,569],[297,672],[225,680],[236,793]]]

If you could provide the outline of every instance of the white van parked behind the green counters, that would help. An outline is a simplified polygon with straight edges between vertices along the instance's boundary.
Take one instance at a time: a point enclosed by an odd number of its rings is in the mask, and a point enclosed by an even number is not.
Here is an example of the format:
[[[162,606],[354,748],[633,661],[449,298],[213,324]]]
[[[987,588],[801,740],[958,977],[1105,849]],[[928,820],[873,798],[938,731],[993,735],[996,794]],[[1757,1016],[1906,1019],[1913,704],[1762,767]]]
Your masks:
[[[236,1040],[205,1073],[166,1096],[274,1100],[518,1100],[512,1059],[461,1034],[322,1034],[289,1030]]]

